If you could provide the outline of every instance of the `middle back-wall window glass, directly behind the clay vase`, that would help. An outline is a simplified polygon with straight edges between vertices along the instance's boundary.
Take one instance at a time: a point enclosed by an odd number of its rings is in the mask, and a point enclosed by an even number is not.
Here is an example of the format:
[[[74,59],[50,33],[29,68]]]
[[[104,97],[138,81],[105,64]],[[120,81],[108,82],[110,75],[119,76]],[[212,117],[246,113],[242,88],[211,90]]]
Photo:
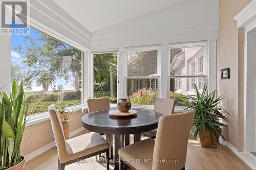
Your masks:
[[[158,50],[127,51],[126,95],[132,104],[154,105],[158,96]]]

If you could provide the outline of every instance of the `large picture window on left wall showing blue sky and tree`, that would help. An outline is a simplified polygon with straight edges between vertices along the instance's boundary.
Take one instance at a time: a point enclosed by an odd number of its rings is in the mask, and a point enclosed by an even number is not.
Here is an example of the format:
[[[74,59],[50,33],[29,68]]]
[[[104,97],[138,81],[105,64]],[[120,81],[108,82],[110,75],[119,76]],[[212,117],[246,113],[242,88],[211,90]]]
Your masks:
[[[30,28],[29,36],[11,36],[11,73],[23,80],[28,114],[82,102],[83,52]]]

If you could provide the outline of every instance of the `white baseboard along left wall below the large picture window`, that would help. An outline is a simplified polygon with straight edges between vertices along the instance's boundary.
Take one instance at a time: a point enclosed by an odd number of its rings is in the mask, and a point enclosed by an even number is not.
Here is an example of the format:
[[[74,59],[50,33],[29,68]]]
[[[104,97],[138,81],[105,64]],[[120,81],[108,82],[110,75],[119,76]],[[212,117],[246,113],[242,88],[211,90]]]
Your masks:
[[[84,130],[83,127],[78,128],[78,129],[70,132],[69,136],[72,137],[72,136],[76,135],[77,133],[81,132],[82,130]],[[44,147],[41,147],[38,150],[35,150],[35,151],[31,152],[28,155],[25,155],[26,161],[30,161],[31,159],[37,157],[38,155],[41,155],[42,153],[52,149],[55,146],[56,146],[56,143],[55,143],[55,140],[54,140],[51,143],[45,145]]]

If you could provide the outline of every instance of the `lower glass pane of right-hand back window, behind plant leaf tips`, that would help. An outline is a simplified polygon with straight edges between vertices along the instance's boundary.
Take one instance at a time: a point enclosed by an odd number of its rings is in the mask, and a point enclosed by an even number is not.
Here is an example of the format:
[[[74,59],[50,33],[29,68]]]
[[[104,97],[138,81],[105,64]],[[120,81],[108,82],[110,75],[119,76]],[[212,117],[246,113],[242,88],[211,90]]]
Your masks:
[[[203,91],[205,78],[170,78],[170,99],[176,100],[176,106],[187,106],[189,101],[183,96],[195,94],[192,83],[196,83],[199,92]]]

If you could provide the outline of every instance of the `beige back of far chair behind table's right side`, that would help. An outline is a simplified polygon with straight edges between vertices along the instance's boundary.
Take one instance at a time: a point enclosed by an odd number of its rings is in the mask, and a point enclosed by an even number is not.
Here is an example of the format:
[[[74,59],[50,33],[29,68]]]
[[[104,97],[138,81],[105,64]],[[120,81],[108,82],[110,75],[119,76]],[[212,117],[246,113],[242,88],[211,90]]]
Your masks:
[[[155,100],[154,111],[162,115],[174,114],[175,100],[157,98]]]

